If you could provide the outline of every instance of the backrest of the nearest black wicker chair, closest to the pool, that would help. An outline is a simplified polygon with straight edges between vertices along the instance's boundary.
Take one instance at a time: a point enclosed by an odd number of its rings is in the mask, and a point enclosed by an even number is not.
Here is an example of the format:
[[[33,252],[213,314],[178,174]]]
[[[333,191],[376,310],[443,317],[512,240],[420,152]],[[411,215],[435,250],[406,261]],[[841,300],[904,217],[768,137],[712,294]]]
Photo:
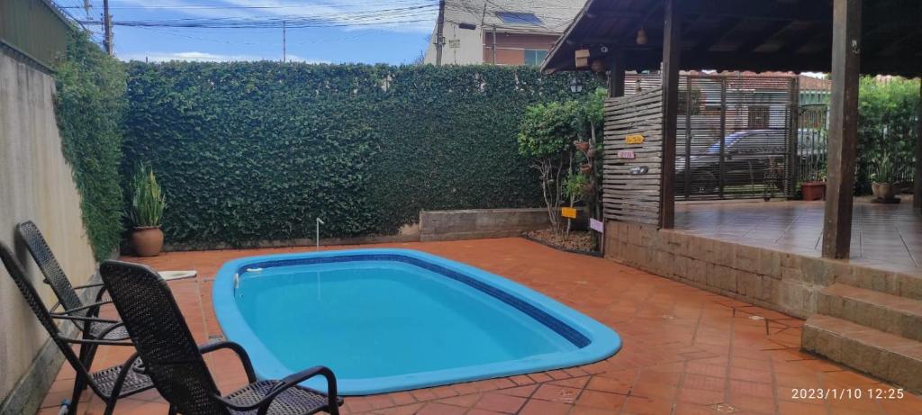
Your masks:
[[[104,261],[100,276],[160,395],[185,415],[228,414],[166,281],[120,261]]]

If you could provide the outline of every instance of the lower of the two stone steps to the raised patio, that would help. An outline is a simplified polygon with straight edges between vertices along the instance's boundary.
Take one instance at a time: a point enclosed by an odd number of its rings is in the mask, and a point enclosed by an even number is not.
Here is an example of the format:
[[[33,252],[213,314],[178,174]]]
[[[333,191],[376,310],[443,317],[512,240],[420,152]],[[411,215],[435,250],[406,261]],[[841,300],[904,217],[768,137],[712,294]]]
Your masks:
[[[833,362],[922,391],[922,342],[829,315],[813,315],[803,326],[802,347]]]

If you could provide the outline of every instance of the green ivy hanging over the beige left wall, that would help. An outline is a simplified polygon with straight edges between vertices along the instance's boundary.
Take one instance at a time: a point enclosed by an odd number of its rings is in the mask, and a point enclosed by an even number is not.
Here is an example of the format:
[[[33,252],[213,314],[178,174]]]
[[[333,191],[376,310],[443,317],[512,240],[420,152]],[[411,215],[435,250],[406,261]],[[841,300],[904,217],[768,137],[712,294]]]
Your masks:
[[[55,74],[55,112],[65,160],[81,196],[83,223],[98,260],[109,257],[122,232],[124,65],[74,30]]]

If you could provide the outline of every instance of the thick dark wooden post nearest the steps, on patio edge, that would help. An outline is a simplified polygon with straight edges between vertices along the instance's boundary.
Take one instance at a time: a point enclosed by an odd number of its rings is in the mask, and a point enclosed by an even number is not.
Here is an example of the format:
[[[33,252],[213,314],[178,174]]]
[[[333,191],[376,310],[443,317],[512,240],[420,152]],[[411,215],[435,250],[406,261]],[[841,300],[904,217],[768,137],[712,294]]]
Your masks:
[[[833,2],[833,94],[829,104],[829,159],[822,255],[843,259],[852,240],[852,200],[858,127],[861,0]]]

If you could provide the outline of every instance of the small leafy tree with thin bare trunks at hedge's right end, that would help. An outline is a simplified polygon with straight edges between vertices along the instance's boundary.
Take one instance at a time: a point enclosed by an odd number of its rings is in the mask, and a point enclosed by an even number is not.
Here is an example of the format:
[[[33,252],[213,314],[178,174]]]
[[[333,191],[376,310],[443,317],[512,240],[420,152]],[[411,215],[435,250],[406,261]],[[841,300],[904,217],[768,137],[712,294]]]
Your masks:
[[[562,179],[572,169],[571,143],[579,137],[580,113],[576,101],[532,105],[519,128],[519,154],[534,161],[531,167],[541,178],[541,192],[555,231],[560,230]]]

